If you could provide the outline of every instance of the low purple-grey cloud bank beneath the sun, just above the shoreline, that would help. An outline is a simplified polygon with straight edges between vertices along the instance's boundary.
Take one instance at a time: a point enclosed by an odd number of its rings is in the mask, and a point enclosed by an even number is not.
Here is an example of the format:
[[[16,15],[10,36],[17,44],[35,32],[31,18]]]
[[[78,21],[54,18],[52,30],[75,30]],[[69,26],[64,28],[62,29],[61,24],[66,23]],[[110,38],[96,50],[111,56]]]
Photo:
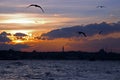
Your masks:
[[[26,45],[26,44],[0,44],[0,50],[9,50],[9,49],[13,49],[13,50],[22,50],[25,48],[28,48],[30,46]]]

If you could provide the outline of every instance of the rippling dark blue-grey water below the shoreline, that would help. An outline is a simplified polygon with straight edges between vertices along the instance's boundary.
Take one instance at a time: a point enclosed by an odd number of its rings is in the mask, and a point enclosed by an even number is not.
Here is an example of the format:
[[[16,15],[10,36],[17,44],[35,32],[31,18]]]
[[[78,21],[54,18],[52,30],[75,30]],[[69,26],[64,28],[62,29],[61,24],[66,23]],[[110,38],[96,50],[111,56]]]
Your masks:
[[[120,80],[120,61],[0,61],[0,80]]]

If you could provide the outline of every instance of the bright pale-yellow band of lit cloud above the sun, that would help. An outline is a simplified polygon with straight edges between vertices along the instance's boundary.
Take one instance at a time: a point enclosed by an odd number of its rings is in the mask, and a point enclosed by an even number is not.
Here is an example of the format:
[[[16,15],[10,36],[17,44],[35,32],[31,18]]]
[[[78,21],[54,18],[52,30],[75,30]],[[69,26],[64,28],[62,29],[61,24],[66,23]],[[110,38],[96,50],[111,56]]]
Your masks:
[[[39,18],[38,14],[1,14],[0,23],[4,24],[46,24],[48,23],[43,17]]]

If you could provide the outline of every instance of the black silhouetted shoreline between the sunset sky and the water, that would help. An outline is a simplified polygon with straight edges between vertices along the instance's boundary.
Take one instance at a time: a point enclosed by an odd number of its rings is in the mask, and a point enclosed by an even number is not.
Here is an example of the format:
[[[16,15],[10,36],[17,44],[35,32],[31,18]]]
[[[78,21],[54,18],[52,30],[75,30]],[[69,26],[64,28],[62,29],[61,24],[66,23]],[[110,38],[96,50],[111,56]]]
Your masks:
[[[119,60],[120,53],[106,52],[101,49],[98,52],[21,52],[14,50],[0,51],[0,60]]]

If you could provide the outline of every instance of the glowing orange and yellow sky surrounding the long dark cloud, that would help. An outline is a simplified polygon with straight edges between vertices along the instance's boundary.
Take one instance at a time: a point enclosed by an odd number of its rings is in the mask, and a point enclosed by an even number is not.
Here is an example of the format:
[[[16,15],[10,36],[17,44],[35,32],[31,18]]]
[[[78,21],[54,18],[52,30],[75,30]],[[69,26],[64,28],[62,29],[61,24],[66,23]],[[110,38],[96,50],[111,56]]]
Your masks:
[[[41,18],[38,18],[38,17]],[[67,26],[77,25],[76,23],[71,24],[74,20],[89,20],[88,18],[70,18],[61,15],[38,15],[38,14],[1,14],[0,15],[0,28],[1,33],[7,32],[11,33],[12,36],[8,36],[12,42],[7,44],[23,44],[29,45],[29,48],[21,49],[23,51],[61,51],[62,47],[65,47],[65,51],[97,51],[94,47],[86,47],[85,41],[92,40],[103,40],[107,38],[120,38],[120,33],[112,33],[109,35],[94,35],[92,37],[80,38],[75,37],[75,39],[55,39],[55,40],[38,40],[35,37],[39,37],[41,34],[49,32],[54,29],[61,29]],[[92,18],[91,18],[92,19]],[[13,36],[15,33],[24,33],[27,36],[18,39]],[[77,40],[76,40],[77,39]],[[96,44],[95,44],[96,45]],[[108,47],[108,46],[107,46]],[[99,46],[98,49],[103,48]],[[111,49],[109,48],[108,51]]]

